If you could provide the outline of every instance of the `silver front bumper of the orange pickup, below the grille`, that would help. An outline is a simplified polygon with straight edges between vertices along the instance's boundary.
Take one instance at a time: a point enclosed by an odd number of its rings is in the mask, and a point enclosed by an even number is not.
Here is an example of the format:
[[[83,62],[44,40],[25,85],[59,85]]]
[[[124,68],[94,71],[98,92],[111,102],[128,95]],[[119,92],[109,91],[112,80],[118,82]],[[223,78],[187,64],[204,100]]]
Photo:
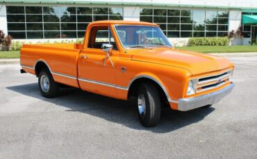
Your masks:
[[[219,102],[222,97],[229,94],[232,91],[233,86],[234,84],[232,83],[219,91],[209,93],[207,95],[201,95],[199,97],[180,98],[178,101],[178,110],[189,111],[208,104],[215,104]]]

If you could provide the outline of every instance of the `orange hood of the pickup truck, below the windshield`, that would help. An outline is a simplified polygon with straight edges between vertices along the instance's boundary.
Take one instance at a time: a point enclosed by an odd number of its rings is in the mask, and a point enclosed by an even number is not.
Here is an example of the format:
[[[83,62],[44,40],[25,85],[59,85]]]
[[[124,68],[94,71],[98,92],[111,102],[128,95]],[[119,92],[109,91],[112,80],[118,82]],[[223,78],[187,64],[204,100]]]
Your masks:
[[[231,62],[225,58],[185,50],[153,48],[131,51],[133,52],[133,60],[185,68],[192,75],[219,71],[231,66]]]

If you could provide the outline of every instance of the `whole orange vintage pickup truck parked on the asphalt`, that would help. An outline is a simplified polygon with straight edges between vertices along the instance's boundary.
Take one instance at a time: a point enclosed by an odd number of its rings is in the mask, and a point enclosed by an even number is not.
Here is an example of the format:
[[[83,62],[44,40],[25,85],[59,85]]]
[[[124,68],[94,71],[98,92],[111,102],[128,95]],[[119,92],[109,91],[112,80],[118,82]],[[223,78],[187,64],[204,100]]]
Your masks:
[[[228,60],[176,50],[158,25],[135,21],[94,21],[83,44],[34,44],[21,50],[21,72],[38,77],[44,97],[59,86],[117,99],[135,99],[145,127],[160,111],[189,111],[219,102],[231,92],[234,66]],[[131,98],[133,97],[133,98]]]

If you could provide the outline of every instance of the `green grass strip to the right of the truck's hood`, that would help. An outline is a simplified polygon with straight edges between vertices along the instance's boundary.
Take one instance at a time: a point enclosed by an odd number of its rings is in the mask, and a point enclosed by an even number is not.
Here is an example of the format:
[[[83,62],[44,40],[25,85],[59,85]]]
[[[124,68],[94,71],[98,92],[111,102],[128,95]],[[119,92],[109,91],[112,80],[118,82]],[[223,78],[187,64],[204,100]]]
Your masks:
[[[190,50],[199,53],[250,53],[257,52],[257,46],[183,46],[179,50]]]

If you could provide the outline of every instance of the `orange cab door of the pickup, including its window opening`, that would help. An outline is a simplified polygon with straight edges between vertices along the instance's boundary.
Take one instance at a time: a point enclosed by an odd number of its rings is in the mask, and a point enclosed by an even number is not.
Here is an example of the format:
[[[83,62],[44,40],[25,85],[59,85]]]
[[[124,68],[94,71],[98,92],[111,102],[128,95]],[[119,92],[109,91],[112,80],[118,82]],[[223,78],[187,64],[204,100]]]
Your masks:
[[[113,44],[110,57],[101,50],[102,44]],[[116,62],[119,57],[113,33],[109,26],[90,29],[88,44],[78,57],[78,82],[84,91],[117,97]]]

